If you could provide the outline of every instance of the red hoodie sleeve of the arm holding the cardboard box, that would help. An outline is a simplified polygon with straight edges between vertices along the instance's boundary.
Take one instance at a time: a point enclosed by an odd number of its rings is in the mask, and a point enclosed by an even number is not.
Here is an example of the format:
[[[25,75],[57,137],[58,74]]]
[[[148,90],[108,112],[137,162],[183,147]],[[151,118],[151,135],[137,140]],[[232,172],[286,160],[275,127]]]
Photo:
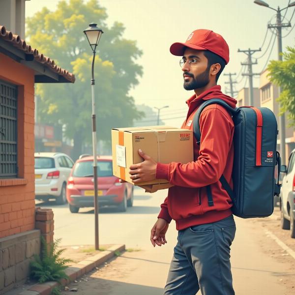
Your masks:
[[[156,178],[173,185],[203,187],[219,180],[224,172],[234,133],[233,120],[217,105],[206,108],[200,117],[201,146],[197,161],[181,164],[157,164]]]

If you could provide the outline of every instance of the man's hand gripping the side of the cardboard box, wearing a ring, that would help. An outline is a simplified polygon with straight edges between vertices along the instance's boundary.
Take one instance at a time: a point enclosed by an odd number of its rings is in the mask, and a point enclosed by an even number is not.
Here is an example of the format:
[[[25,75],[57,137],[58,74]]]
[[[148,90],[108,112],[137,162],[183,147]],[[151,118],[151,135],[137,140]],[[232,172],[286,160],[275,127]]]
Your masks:
[[[138,153],[144,161],[129,167],[130,178],[133,180],[134,184],[156,178],[157,162],[145,154],[141,149],[138,150]]]

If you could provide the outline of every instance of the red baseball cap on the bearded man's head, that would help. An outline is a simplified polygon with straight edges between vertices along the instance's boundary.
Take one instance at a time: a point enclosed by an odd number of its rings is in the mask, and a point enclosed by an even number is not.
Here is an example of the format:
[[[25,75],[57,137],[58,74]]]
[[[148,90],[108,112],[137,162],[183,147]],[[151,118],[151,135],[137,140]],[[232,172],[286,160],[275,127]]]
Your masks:
[[[175,56],[182,56],[185,48],[195,50],[209,50],[225,60],[230,61],[229,46],[223,37],[209,29],[196,29],[187,38],[185,43],[173,43],[170,52]]]

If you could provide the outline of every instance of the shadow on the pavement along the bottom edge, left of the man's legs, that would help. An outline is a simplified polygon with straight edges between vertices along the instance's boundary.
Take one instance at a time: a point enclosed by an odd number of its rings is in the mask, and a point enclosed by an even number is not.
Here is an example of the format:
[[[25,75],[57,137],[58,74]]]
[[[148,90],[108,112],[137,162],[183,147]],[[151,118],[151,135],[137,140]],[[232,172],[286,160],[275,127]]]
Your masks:
[[[118,275],[120,277],[120,275]],[[77,287],[77,295],[162,295],[163,289],[131,283],[93,278],[87,283],[71,284],[69,288]]]

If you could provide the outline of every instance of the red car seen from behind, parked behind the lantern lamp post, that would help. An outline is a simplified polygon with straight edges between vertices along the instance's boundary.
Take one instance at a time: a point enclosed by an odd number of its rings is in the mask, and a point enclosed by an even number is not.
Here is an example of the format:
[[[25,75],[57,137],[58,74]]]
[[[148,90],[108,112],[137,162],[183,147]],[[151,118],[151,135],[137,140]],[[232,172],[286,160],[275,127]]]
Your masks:
[[[120,183],[113,176],[111,156],[97,157],[98,204],[116,205],[121,212],[133,205],[133,185]],[[93,156],[79,158],[72,168],[66,187],[66,198],[72,213],[80,207],[94,207]]]

